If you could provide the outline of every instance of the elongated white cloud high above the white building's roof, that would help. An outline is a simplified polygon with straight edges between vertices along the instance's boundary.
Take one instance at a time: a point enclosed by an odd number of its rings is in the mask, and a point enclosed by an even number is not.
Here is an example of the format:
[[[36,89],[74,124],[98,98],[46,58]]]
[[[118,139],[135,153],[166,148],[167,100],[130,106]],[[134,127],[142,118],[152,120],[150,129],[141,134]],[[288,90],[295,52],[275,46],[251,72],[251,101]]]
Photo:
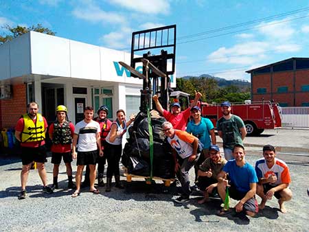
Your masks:
[[[121,14],[106,12],[99,6],[87,5],[87,7],[78,7],[73,10],[73,15],[78,19],[84,19],[92,23],[126,23],[126,19]]]

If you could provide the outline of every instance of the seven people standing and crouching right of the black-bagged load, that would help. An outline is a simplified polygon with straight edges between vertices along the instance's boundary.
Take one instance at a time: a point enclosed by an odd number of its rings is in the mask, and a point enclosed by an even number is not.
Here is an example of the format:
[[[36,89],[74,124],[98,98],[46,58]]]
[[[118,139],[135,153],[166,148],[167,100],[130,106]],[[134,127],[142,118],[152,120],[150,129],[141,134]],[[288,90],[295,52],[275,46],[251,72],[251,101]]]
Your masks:
[[[201,108],[196,106],[196,98],[190,108],[181,112],[178,102],[172,104],[171,112],[165,111],[155,95],[153,100],[157,110],[167,119],[162,130],[173,148],[175,172],[181,182],[181,196],[175,202],[184,203],[190,200],[189,171],[196,169],[196,185],[203,191],[204,197],[198,203],[205,203],[209,195],[218,194],[225,202],[225,207],[218,211],[219,216],[231,212],[229,197],[239,200],[236,212],[244,212],[254,216],[258,209],[264,209],[266,201],[273,196],[278,199],[279,209],[286,212],[284,202],[292,198],[290,173],[284,161],[276,158],[275,148],[271,145],[263,147],[264,158],[255,163],[255,168],[244,159],[243,140],[247,135],[242,119],[231,114],[231,104],[221,104],[222,117],[218,119],[216,128],[223,141],[225,158],[216,145],[214,126],[207,118],[201,117]],[[192,120],[187,124],[189,117]],[[185,129],[186,125],[186,131]],[[203,150],[198,150],[199,141]],[[227,196],[228,194],[228,196]],[[258,194],[262,202],[258,205],[255,198]]]

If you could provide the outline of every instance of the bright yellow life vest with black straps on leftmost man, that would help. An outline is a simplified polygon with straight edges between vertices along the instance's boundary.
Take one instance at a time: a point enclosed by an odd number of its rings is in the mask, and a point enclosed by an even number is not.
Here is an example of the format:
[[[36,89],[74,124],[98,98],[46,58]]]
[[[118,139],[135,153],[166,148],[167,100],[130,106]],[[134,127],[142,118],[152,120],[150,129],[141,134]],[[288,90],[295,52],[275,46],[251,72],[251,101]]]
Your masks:
[[[45,124],[41,114],[36,114],[36,124],[32,118],[25,114],[23,117],[23,132],[21,132],[21,142],[29,143],[34,141],[42,141],[45,139]]]

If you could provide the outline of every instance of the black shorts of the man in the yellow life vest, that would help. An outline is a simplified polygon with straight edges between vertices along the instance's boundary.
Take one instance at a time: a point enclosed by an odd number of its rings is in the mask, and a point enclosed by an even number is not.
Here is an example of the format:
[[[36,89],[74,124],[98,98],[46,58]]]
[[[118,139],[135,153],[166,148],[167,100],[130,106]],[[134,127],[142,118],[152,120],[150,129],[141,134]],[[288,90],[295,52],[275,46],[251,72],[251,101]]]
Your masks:
[[[45,145],[38,148],[21,147],[21,163],[28,165],[35,161],[37,163],[45,163],[46,161],[46,147]]]

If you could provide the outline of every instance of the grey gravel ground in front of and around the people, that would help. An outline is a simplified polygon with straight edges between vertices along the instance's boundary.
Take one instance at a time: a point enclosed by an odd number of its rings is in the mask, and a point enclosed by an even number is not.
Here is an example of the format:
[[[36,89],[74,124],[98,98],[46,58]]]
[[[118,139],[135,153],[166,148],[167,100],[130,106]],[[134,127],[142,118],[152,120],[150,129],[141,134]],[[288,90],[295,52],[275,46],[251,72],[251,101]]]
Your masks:
[[[294,131],[290,130],[288,135],[291,133]],[[300,136],[295,141],[304,143],[307,134],[304,133],[304,137]],[[299,135],[299,132],[295,132],[295,135]],[[290,137],[283,141],[279,136],[275,132],[275,135],[270,136],[273,139],[262,136],[252,140],[260,144],[281,141],[282,145],[291,141]],[[253,148],[248,148],[247,161],[251,164],[261,156],[257,147],[258,142]],[[304,147],[299,145],[299,148]],[[308,156],[305,159],[304,156],[288,157],[293,181],[290,185],[293,199],[286,202],[288,213],[279,212],[277,201],[273,199],[255,218],[236,213],[221,218],[216,216],[220,200],[213,199],[205,205],[198,205],[196,201],[201,196],[194,192],[189,203],[179,205],[172,201],[176,198],[177,187],[164,187],[161,181],[157,181],[156,185],[146,185],[144,180],[133,178],[132,183],[126,183],[126,189],[113,187],[112,192],[106,193],[104,187],[100,187],[99,195],[83,189],[78,198],[71,198],[72,192],[65,189],[67,176],[63,164],[60,165],[59,175],[59,187],[63,189],[57,189],[51,195],[43,194],[38,174],[32,170],[27,183],[27,198],[18,200],[21,161],[18,157],[2,155],[0,231],[309,231],[309,198],[306,192],[309,187]],[[50,157],[46,166],[51,183]],[[75,166],[73,170],[76,170]],[[194,178],[193,172],[190,172],[190,177]],[[125,180],[125,177],[122,179]],[[236,201],[231,200],[231,206],[234,205]]]

